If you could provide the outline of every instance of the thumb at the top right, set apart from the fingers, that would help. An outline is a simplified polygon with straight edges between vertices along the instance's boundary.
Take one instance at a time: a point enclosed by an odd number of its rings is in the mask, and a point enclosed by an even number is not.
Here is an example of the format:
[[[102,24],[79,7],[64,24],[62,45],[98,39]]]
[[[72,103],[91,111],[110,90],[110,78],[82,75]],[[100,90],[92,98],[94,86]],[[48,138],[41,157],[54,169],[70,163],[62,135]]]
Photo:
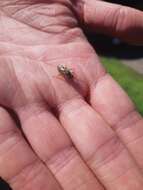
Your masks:
[[[77,10],[87,27],[127,42],[143,44],[142,11],[98,0],[80,2]]]

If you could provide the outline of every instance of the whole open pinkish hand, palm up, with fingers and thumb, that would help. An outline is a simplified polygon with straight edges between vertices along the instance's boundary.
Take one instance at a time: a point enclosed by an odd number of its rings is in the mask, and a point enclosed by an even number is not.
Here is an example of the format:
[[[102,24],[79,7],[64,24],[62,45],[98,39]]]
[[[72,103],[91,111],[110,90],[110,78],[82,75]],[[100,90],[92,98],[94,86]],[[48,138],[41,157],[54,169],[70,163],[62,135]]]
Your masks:
[[[143,43],[141,11],[96,0],[0,0],[0,176],[14,190],[143,187],[142,117],[83,28]],[[59,76],[61,64],[73,69],[71,82]]]

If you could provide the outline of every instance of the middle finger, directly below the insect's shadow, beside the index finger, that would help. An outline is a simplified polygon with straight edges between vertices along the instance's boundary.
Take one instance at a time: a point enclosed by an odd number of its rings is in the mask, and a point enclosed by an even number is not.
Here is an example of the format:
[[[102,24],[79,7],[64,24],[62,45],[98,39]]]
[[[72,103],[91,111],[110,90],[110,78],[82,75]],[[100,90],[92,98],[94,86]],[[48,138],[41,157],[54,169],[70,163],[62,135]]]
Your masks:
[[[123,186],[126,190],[142,188],[141,172],[127,149],[85,101],[74,99],[62,105],[60,121],[88,166],[108,190],[119,190]]]

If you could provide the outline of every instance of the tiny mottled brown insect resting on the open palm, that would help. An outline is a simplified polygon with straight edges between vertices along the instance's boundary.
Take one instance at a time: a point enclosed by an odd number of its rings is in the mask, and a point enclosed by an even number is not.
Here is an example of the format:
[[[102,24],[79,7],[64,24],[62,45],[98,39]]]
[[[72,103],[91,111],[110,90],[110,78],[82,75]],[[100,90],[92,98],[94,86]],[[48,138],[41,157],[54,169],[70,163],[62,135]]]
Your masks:
[[[63,77],[65,77],[65,78],[67,78],[67,79],[73,79],[73,78],[74,78],[74,76],[73,76],[73,71],[72,71],[71,69],[67,68],[66,66],[58,65],[58,66],[57,66],[57,69],[58,69],[59,73],[60,73]]]

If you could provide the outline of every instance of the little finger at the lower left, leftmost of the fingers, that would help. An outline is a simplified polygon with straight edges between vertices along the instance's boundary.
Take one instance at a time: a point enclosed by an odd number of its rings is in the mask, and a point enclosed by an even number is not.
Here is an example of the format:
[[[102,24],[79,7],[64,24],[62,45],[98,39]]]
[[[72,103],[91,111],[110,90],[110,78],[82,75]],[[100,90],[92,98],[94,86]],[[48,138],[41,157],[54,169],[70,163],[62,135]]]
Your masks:
[[[30,149],[2,107],[0,121],[0,177],[14,190],[60,190],[57,181]]]

